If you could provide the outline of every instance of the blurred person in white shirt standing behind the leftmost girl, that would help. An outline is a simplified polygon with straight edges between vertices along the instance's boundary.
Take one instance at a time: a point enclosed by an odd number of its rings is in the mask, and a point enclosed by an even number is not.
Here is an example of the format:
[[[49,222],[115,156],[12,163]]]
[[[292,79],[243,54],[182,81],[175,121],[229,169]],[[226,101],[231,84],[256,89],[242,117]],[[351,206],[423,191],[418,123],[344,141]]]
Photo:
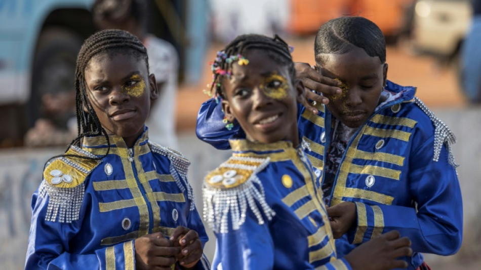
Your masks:
[[[152,103],[147,125],[150,138],[177,148],[175,102],[179,57],[169,42],[147,32],[148,5],[145,0],[96,0],[94,23],[99,29],[122,29],[136,35],[147,48],[149,68],[155,75],[159,99]]]

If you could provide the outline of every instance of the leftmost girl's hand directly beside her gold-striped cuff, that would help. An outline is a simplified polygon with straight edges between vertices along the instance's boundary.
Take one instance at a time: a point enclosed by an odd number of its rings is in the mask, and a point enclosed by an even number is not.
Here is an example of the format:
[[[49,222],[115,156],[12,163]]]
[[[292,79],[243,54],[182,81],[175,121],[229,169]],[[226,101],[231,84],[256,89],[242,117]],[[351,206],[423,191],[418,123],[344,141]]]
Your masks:
[[[170,270],[177,261],[175,257],[180,247],[174,247],[172,241],[162,233],[143,236],[134,241],[135,267],[137,270],[165,269]]]

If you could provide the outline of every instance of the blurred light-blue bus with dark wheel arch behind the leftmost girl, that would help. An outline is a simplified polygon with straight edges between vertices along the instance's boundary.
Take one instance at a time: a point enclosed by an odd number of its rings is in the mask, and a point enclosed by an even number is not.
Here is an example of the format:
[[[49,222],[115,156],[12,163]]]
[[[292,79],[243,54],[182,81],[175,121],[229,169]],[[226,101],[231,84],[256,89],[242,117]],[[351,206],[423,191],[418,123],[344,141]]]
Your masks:
[[[55,95],[73,92],[76,54],[95,31],[92,4],[93,0],[0,1],[0,119],[4,124],[0,147],[23,145],[25,133],[40,117],[71,113],[67,110],[74,103],[59,110],[48,107],[44,97],[62,100]],[[150,32],[177,49],[179,79],[195,82],[207,47],[206,0],[149,0],[149,5]],[[68,128],[65,119],[59,122],[60,128]]]

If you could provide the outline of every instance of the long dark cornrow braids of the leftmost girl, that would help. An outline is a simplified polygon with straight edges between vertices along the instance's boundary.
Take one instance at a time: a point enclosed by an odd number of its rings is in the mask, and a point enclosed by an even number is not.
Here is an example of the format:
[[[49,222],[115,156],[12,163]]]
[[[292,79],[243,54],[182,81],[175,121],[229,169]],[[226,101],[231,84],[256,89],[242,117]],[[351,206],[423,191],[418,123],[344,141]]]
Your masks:
[[[140,42],[140,40],[135,35],[124,30],[108,29],[98,31],[88,37],[77,55],[75,67],[74,87],[78,135],[68,145],[67,150],[73,145],[82,147],[82,139],[86,136],[104,135],[108,145],[107,151],[102,157],[98,158],[63,154],[52,157],[50,160],[66,156],[100,160],[108,155],[108,152],[110,150],[110,140],[107,132],[104,130],[104,128],[102,128],[97,114],[92,107],[92,103],[90,102],[88,97],[87,86],[85,82],[85,69],[89,61],[95,55],[98,55],[100,53],[108,53],[109,55],[121,53],[135,56],[138,59],[143,58],[145,60],[145,65],[147,66],[148,72],[149,66],[147,50],[145,49],[142,42]],[[47,161],[47,163],[49,161]]]

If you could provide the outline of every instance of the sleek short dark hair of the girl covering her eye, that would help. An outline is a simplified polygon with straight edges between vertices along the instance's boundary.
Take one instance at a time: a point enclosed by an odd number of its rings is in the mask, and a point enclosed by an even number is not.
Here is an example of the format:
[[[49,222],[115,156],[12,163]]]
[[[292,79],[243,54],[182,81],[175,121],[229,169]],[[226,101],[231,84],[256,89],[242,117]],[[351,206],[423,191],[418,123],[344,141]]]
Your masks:
[[[316,63],[323,65],[326,56],[320,54],[344,54],[354,48],[362,48],[371,57],[386,62],[386,41],[379,27],[359,16],[332,19],[317,31],[314,42]]]

